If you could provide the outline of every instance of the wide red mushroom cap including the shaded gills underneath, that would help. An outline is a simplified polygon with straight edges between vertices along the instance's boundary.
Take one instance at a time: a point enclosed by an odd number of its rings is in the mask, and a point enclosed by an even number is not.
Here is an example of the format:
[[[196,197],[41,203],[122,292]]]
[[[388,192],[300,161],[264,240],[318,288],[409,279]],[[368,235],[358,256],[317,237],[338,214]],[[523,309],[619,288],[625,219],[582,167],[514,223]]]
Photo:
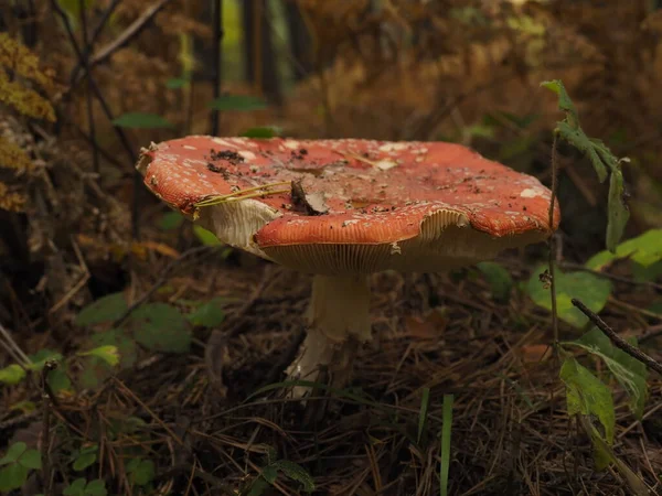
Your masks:
[[[446,142],[192,136],[150,147],[138,166],[154,194],[186,214],[210,197],[254,188],[250,200],[225,205],[261,204],[260,219],[252,227],[254,251],[296,267],[301,267],[300,256],[312,257],[303,267],[313,272],[319,265],[332,266],[331,272],[354,270],[349,265],[372,271],[405,270],[413,263],[412,270],[420,270],[426,262],[416,259],[424,256],[439,259],[435,268],[471,263],[546,238],[560,218],[557,208],[549,226],[551,192],[535,177]],[[259,190],[292,181],[298,183],[277,186],[280,193]],[[211,208],[200,207],[201,216]],[[211,224],[224,240],[218,226],[227,223],[217,218]],[[453,229],[473,234],[462,242],[450,241],[446,238],[457,239],[460,233]],[[442,247],[449,242],[457,246]],[[472,247],[474,242],[489,248]],[[401,244],[413,251],[394,265],[388,261],[393,255],[406,255]],[[323,245],[330,246],[321,249]],[[342,246],[344,251],[338,248]],[[366,251],[370,246],[388,249]],[[364,265],[356,257],[370,260]]]

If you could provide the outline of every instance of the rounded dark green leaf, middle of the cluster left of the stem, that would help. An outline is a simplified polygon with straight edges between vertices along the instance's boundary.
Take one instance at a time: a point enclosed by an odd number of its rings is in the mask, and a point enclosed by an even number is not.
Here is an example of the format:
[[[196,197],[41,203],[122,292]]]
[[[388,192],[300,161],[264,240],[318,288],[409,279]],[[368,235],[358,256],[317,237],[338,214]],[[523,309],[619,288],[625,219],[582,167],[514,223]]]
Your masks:
[[[185,353],[191,345],[191,333],[179,310],[166,303],[139,306],[129,317],[134,337],[153,352]]]

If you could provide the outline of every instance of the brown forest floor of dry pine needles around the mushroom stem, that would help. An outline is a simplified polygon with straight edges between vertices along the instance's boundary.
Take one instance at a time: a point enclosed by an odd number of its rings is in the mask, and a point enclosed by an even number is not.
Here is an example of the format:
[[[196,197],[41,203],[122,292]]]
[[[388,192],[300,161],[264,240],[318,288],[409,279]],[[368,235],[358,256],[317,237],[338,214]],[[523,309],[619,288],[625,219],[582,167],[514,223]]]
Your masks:
[[[143,262],[151,267],[135,272],[140,276],[131,290],[158,301],[221,296],[226,319],[211,337],[209,330],[196,333],[189,354],[141,356],[102,388],[61,397],[53,407],[70,433],[83,439],[113,421],[141,420],[121,436],[97,438],[99,457],[107,457],[102,471],[110,472],[98,475],[118,481],[118,494],[141,494],[129,489],[118,456],[131,446],[145,449],[156,466],[153,494],[293,495],[302,493],[307,474],[314,494],[439,494],[447,395],[449,494],[628,494],[615,470],[595,470],[590,441],[566,412],[558,362],[548,348],[549,315],[517,287],[504,303],[471,270],[374,274],[374,342],[361,349],[352,384],[342,391],[314,390],[303,406],[287,397],[286,385],[266,386],[282,380],[292,358],[310,277],[212,251],[167,278],[160,278],[163,262]],[[519,257],[501,262],[515,281],[532,276]],[[604,315],[624,335],[641,335],[645,320],[628,302],[640,304],[645,288],[616,284],[618,298]],[[563,324],[562,334],[578,337]],[[42,345],[53,337],[42,336]],[[82,341],[71,336],[67,346],[75,349]],[[655,337],[644,341],[652,345]],[[654,488],[662,466],[661,385],[650,382],[641,423],[626,396],[615,396],[615,452]],[[40,401],[34,388],[14,391],[12,402],[19,400]],[[42,432],[40,410],[1,417],[2,435],[13,441],[30,443]]]

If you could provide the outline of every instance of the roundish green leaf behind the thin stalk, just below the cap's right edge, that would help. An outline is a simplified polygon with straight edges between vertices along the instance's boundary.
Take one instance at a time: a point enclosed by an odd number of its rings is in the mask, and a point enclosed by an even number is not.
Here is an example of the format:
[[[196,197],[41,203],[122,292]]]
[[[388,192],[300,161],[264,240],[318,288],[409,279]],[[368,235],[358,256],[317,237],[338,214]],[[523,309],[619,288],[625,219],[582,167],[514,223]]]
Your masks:
[[[538,274],[544,270],[545,266],[541,266],[533,272],[526,284],[526,291],[536,304],[551,311],[551,291],[545,289],[538,279]],[[558,317],[575,327],[583,327],[588,322],[588,317],[573,305],[572,299],[581,300],[586,306],[597,313],[602,310],[611,294],[611,282],[590,272],[564,273],[558,268],[554,272]]]

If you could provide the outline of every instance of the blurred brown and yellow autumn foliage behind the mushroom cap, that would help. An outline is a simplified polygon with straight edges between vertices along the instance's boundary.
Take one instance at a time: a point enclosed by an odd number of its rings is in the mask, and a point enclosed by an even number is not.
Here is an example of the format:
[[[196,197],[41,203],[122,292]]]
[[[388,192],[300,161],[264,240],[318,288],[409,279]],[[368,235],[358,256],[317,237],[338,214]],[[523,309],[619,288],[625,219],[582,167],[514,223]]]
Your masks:
[[[562,78],[586,132],[631,158],[628,237],[662,225],[654,2],[225,0],[215,99],[214,3],[2,2],[0,317],[81,304],[83,277],[93,296],[120,288],[128,254],[172,255],[135,159],[211,132],[212,108],[221,134],[457,141],[548,183],[540,82]],[[602,246],[605,187],[562,148],[570,258]]]

